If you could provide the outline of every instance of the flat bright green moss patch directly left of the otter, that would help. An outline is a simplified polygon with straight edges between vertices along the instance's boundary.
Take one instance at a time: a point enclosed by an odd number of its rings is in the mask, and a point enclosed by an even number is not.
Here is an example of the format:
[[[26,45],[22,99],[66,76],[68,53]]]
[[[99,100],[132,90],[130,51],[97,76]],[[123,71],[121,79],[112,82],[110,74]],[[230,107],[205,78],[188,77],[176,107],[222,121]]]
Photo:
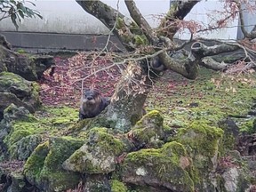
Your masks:
[[[4,113],[12,112],[12,106]],[[11,132],[4,138],[4,143],[12,157],[19,156],[16,143],[29,135],[41,135],[42,139],[61,136],[63,132],[73,134],[71,126],[76,124],[78,111],[75,108],[41,108],[35,115],[24,115],[12,122]]]

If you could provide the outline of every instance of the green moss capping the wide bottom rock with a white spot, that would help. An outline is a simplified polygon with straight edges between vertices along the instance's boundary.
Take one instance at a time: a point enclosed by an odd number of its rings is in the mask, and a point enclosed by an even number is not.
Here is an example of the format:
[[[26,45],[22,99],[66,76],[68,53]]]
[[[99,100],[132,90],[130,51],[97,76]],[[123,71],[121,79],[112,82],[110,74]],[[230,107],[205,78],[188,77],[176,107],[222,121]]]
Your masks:
[[[159,182],[168,182],[180,191],[194,191],[194,183],[188,172],[183,170],[171,157],[165,156],[161,149],[141,149],[129,153],[125,159],[123,174],[134,174],[138,177],[138,169],[144,174],[152,175]]]

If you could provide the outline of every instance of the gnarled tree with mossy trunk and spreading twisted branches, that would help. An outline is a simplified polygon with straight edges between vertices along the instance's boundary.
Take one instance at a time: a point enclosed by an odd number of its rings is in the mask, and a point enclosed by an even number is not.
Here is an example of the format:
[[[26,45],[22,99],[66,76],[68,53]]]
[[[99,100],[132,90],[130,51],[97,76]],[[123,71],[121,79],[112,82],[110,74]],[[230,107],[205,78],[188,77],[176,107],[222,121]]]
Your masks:
[[[132,17],[129,21],[121,12],[100,0],[76,0],[76,2],[85,12],[92,14],[107,26],[129,52],[129,58],[123,58],[121,62],[128,64],[116,85],[116,91],[107,112],[107,119],[115,122],[114,125],[112,124],[114,128],[124,132],[131,128],[134,119],[140,118],[149,87],[153,80],[157,80],[157,76],[153,78],[151,75],[157,75],[159,69],[171,69],[188,79],[196,79],[198,66],[215,70],[228,67],[228,64],[213,60],[210,56],[241,49],[244,53],[242,56],[237,56],[236,60],[243,61],[247,67],[255,67],[256,52],[255,46],[252,46],[252,39],[256,38],[256,30],[253,28],[248,32],[244,28],[242,4],[246,5],[245,9],[255,11],[255,6],[253,7],[248,1],[226,0],[224,17],[207,28],[203,28],[196,22],[183,20],[200,0],[172,1],[169,12],[158,28],[149,26],[133,0],[124,0]],[[217,45],[207,46],[202,39],[194,39],[197,32],[224,28],[228,21],[234,20],[237,16],[240,16],[243,40],[234,43],[218,42]],[[183,28],[188,28],[191,38],[179,44],[175,41],[174,35]],[[190,52],[183,49],[185,45],[193,42]]]

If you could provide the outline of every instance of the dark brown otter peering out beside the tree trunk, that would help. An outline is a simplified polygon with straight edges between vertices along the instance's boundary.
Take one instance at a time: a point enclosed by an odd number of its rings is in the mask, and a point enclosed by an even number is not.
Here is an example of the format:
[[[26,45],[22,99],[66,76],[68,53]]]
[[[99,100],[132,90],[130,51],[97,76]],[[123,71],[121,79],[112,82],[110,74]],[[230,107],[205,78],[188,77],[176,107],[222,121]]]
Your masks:
[[[101,97],[95,90],[86,90],[81,98],[79,120],[98,116],[110,103],[108,98]]]

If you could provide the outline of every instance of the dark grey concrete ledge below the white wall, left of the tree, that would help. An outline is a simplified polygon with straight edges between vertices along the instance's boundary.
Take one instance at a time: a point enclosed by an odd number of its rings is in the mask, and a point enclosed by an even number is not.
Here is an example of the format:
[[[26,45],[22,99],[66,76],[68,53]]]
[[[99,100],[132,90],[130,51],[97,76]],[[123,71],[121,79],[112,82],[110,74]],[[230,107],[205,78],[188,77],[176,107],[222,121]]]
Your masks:
[[[27,33],[0,31],[13,47],[35,50],[79,50],[92,51],[105,47],[108,36],[70,35],[53,33]],[[108,50],[124,51],[124,46],[115,36],[110,37]]]

